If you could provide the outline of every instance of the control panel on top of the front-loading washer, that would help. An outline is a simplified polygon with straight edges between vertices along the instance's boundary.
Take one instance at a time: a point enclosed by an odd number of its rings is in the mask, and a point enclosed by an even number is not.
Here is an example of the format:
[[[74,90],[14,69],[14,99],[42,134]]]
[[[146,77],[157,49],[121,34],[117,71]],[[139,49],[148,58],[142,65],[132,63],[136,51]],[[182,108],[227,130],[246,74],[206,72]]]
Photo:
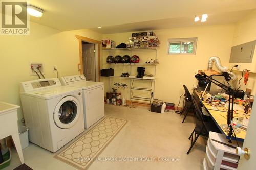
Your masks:
[[[34,90],[46,89],[54,86],[61,86],[58,78],[38,79],[20,83],[20,91],[29,92]]]

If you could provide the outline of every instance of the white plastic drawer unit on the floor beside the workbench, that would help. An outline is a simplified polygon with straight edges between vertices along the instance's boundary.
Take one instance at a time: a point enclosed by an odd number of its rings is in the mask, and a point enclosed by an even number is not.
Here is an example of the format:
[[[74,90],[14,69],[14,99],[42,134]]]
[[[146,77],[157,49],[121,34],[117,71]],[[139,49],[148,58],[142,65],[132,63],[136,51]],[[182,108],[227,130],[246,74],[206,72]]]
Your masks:
[[[236,155],[236,144],[235,141],[229,143],[222,134],[210,132],[203,160],[204,169],[237,169],[239,156]]]

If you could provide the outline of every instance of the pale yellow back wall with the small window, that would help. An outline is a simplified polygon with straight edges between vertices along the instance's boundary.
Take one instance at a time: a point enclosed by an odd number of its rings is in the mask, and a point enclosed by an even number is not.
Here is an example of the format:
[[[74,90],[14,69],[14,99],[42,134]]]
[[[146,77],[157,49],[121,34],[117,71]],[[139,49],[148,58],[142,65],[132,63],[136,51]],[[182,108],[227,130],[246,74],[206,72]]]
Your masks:
[[[207,69],[208,59],[211,56],[219,56],[222,65],[228,66],[234,25],[163,29],[154,30],[154,32],[161,42],[158,49],[160,64],[156,71],[155,98],[177,105],[179,96],[184,93],[182,85],[185,84],[188,89],[192,89],[193,85],[196,84],[195,73],[199,69]],[[129,37],[131,37],[131,32],[103,35],[103,39],[112,39],[117,45],[121,42],[128,42]],[[167,54],[167,40],[169,38],[189,37],[198,37],[196,55]],[[102,56],[102,67],[104,67],[103,63],[106,62],[105,57]]]

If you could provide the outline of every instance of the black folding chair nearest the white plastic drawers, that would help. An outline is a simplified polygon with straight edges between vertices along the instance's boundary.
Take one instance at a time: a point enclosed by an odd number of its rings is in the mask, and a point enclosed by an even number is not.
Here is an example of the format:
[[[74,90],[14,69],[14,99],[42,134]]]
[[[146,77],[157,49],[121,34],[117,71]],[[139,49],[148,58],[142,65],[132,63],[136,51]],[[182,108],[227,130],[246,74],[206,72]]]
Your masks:
[[[212,119],[208,119],[204,117],[202,113],[200,101],[198,101],[199,98],[196,99],[195,96],[193,95],[191,96],[191,99],[192,99],[195,113],[196,113],[196,127],[188,138],[189,140],[191,139],[191,145],[189,150],[187,151],[187,154],[189,154],[190,150],[193,148],[194,144],[196,143],[200,135],[208,137],[210,131],[221,133]],[[193,141],[193,136],[195,138],[194,141]]]

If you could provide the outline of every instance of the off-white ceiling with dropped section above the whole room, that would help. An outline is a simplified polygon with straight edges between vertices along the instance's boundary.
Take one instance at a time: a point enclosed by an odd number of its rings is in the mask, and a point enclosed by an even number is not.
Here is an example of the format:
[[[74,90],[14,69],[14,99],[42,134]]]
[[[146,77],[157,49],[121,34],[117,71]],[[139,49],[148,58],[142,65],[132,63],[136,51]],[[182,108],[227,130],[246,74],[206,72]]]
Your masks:
[[[194,15],[209,14],[204,25],[233,23],[256,9],[255,0],[30,0],[44,9],[31,21],[59,30],[100,33],[196,26]],[[103,26],[99,29],[97,26]]]

